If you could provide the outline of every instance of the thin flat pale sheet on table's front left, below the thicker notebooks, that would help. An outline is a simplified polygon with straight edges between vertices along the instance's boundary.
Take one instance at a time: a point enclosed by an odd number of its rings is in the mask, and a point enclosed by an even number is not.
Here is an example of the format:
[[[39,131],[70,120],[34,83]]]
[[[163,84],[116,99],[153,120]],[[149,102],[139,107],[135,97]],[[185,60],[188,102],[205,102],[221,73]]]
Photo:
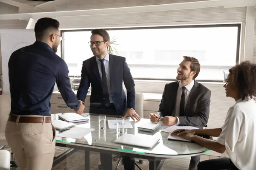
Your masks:
[[[62,133],[57,134],[59,137],[63,138],[75,138],[75,139],[80,139],[93,131],[94,129],[91,128],[84,128],[84,127],[72,127],[69,130],[65,130]]]

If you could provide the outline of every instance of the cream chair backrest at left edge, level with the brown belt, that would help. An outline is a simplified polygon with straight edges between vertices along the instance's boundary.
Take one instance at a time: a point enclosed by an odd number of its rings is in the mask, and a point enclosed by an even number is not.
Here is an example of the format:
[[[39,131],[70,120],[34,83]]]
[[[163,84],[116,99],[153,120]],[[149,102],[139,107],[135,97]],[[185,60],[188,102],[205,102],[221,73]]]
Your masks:
[[[0,132],[5,131],[6,122],[11,111],[11,95],[3,94],[0,95]]]

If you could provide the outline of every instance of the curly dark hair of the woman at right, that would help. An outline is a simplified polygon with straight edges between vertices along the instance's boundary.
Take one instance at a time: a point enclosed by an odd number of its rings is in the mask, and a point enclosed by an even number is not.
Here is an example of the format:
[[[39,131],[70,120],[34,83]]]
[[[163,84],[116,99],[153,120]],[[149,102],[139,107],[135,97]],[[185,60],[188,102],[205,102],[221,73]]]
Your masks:
[[[256,64],[249,61],[241,62],[229,69],[233,82],[242,99],[254,99],[256,97]]]

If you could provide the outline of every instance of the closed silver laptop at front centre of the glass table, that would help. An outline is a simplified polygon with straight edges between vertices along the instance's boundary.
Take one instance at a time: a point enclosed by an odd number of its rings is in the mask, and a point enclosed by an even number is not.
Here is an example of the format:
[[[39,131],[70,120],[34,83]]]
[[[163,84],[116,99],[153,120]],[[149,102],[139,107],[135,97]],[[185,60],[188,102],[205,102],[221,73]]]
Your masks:
[[[119,144],[128,144],[138,147],[147,147],[152,148],[159,139],[155,138],[151,135],[145,135],[145,134],[123,134],[118,139],[114,140],[113,142],[119,143]]]

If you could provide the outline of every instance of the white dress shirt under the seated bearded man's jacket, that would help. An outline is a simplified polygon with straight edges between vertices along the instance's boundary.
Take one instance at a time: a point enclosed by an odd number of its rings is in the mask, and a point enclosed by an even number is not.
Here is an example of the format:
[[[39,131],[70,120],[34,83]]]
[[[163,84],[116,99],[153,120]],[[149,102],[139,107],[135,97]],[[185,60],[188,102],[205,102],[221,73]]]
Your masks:
[[[185,86],[185,105],[184,105],[184,109],[186,108],[186,104],[188,102],[189,99],[189,94],[191,92],[192,87],[194,86],[195,81],[193,80],[191,83],[189,83],[188,85]],[[176,105],[175,105],[175,115],[180,115],[180,99],[181,99],[181,95],[182,95],[182,87],[183,85],[181,84],[181,82],[179,82],[179,87],[178,87],[178,91],[177,91],[177,98],[176,98]],[[179,113],[179,114],[176,114]],[[179,117],[177,117],[178,121],[176,125],[180,124],[180,119]]]

